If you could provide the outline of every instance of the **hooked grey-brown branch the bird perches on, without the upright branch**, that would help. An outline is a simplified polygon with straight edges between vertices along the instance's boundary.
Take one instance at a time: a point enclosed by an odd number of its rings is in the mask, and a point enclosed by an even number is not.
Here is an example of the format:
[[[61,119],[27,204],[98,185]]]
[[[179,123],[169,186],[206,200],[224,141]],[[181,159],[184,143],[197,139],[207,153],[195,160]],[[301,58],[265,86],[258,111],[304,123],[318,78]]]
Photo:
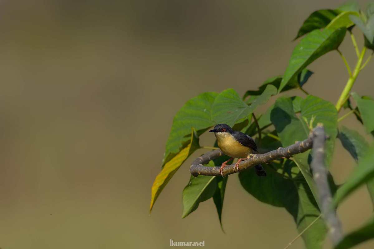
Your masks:
[[[254,167],[257,164],[268,164],[273,160],[279,159],[279,158],[289,158],[292,155],[305,152],[309,149],[312,149],[312,142],[313,142],[313,132],[317,129],[313,129],[313,131],[309,134],[309,137],[301,142],[297,142],[295,144],[292,144],[286,148],[279,147],[277,150],[272,150],[270,152],[264,153],[264,154],[258,154],[254,155],[252,158],[249,158],[245,161],[242,161],[239,164],[239,172],[243,171],[245,169],[249,169]],[[194,177],[197,177],[198,175],[221,175],[220,173],[220,167],[208,167],[204,166],[203,164],[208,164],[209,161],[219,158],[220,156],[224,155],[223,152],[218,150],[213,150],[205,153],[202,156],[199,156],[198,158],[193,161],[192,165],[190,166],[190,172],[191,175]],[[223,168],[223,174],[224,175],[230,175],[234,174],[238,171],[234,169],[234,165],[227,165]]]

